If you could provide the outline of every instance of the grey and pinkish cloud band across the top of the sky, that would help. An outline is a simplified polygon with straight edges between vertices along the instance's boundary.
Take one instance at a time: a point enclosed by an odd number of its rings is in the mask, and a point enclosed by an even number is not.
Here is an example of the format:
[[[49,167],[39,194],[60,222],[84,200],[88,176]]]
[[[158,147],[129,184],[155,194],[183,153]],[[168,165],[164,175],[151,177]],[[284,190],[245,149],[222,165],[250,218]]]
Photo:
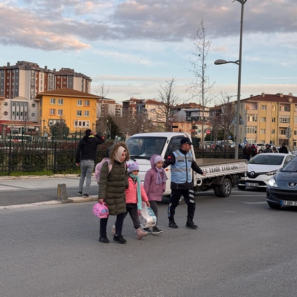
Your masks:
[[[248,0],[244,7],[245,35],[297,32],[297,1]],[[0,40],[47,51],[89,49],[104,39],[178,43],[193,40],[202,18],[209,39],[238,37],[240,10],[231,0],[7,0]]]

